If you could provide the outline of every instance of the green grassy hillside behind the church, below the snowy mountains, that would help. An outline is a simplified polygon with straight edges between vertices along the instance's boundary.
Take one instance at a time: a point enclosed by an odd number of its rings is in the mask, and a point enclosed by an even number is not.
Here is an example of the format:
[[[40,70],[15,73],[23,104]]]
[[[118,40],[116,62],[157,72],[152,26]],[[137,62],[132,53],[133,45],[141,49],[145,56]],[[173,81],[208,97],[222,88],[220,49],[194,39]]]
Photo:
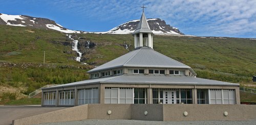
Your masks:
[[[128,53],[123,42],[131,44],[130,50],[134,47],[132,35],[76,35],[96,43],[83,55],[87,59],[84,62],[93,65]],[[93,66],[74,61],[76,53],[63,42],[72,40],[52,30],[0,26],[0,86],[23,88],[21,92],[28,94],[46,84],[88,79],[86,71]],[[256,74],[256,40],[154,36],[154,49],[192,67],[200,78],[248,83]]]

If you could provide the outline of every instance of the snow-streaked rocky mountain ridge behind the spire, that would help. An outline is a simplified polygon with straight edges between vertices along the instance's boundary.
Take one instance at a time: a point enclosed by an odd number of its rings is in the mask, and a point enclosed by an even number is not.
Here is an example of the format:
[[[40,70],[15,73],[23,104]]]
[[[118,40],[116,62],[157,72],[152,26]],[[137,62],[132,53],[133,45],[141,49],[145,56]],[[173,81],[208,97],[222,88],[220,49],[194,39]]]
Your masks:
[[[179,29],[172,27],[169,24],[166,24],[166,22],[162,19],[150,18],[150,19],[147,19],[147,21],[154,34],[184,35],[179,31]],[[131,34],[136,29],[138,23],[139,23],[139,20],[127,21],[107,32],[89,32],[89,33]],[[57,24],[55,21],[47,18],[38,18],[38,17],[31,17],[26,15],[7,15],[7,14],[0,13],[0,24],[10,25],[10,26],[19,26],[19,27],[52,29],[52,30],[63,32],[63,33],[88,33],[85,31],[69,30],[67,28],[60,26],[60,24]]]

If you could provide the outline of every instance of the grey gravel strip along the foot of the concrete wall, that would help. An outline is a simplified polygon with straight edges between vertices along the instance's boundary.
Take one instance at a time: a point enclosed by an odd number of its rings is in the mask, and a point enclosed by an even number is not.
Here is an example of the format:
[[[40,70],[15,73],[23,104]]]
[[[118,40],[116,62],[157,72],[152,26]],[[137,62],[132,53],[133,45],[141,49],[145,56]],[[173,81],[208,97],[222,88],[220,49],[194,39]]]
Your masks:
[[[104,120],[104,119],[87,119],[81,121],[68,121],[68,122],[57,122],[57,123],[42,123],[40,125],[82,125],[82,124],[256,124],[256,119],[246,120],[246,121],[143,121],[143,120]],[[38,124],[39,125],[39,124]]]

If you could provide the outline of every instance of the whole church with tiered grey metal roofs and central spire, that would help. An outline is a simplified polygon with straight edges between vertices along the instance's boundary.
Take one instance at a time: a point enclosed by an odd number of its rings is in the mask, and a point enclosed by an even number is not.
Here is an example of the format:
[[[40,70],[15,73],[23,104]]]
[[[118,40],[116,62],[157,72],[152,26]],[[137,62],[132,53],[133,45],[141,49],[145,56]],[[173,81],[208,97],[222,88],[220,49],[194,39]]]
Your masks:
[[[144,10],[132,35],[134,51],[89,70],[89,80],[42,88],[41,106],[240,104],[239,84],[197,78],[190,66],[154,51]]]

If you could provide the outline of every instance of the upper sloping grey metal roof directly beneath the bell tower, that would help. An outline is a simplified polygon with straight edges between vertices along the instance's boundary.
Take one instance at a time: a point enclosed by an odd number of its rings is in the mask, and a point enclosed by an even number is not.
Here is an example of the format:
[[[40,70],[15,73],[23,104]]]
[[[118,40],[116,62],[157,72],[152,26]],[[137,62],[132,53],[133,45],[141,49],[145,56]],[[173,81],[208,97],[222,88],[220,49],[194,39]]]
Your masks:
[[[190,68],[189,66],[160,54],[150,47],[140,47],[134,51],[100,65],[90,71],[100,71],[116,67],[162,67],[162,68]]]

